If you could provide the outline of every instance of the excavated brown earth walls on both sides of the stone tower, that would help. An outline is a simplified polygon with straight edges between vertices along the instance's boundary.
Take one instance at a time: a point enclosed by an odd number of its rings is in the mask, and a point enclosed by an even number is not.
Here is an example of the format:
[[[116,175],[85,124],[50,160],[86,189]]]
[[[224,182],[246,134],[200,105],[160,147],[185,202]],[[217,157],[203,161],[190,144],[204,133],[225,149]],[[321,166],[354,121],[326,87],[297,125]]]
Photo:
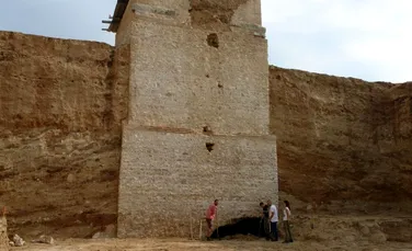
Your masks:
[[[129,52],[0,32],[0,207],[9,232],[114,229]],[[279,190],[296,209],[411,210],[412,84],[270,69]]]

